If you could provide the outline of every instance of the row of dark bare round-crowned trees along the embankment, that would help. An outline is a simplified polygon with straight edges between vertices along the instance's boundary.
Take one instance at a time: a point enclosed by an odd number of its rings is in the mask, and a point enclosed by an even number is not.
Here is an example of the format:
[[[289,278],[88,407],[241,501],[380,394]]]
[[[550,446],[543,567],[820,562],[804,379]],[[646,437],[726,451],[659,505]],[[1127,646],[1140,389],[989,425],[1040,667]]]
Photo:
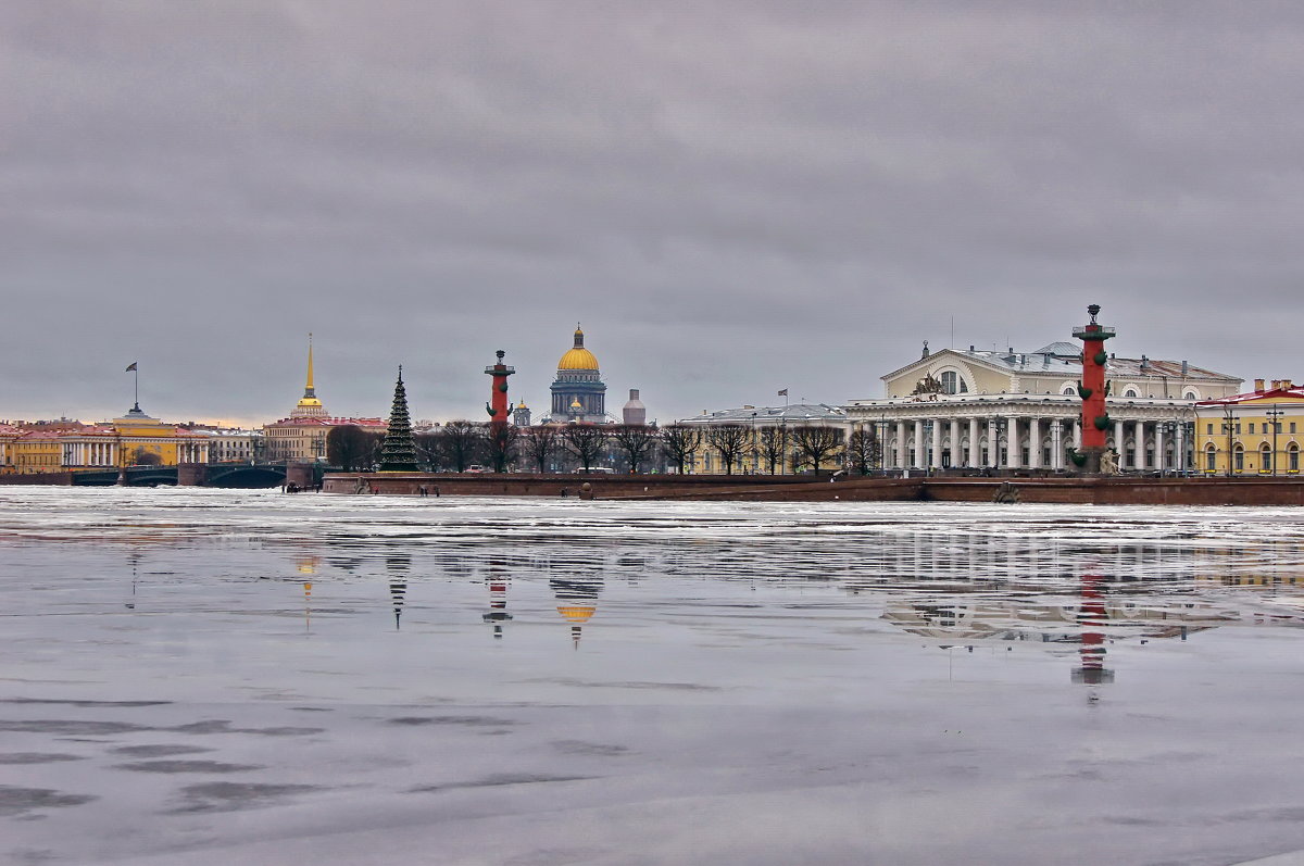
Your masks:
[[[379,459],[383,437],[359,426],[338,426],[326,437],[326,456],[346,471],[369,470]],[[760,426],[717,424],[707,428],[672,424],[644,425],[570,424],[565,426],[514,426],[449,421],[432,433],[415,437],[417,459],[430,471],[466,472],[486,466],[496,472],[520,467],[546,472],[558,459],[585,472],[604,456],[618,454],[630,472],[642,472],[664,458],[665,464],[686,472],[704,449],[715,451],[725,475],[732,475],[745,456],[754,454],[756,468],[773,475],[782,471],[789,455],[797,467],[815,475],[844,446],[842,430],[832,426]],[[882,447],[872,428],[857,429],[845,442],[846,463],[861,475],[879,464]]]

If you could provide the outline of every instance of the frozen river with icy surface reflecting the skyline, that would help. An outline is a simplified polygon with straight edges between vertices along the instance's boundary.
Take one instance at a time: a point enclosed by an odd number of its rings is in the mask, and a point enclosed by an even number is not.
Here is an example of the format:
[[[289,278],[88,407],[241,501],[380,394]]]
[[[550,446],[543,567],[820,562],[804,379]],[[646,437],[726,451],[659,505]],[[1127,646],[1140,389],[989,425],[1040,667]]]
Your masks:
[[[1304,849],[1299,509],[0,486],[0,616],[3,862]]]

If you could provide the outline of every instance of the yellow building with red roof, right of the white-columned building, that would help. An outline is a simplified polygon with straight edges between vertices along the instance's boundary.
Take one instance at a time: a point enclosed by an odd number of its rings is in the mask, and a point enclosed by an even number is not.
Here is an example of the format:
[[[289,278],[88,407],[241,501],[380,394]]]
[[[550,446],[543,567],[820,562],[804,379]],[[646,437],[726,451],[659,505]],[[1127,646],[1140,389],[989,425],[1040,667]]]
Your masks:
[[[1254,380],[1254,390],[1196,403],[1196,460],[1205,475],[1294,476],[1304,442],[1304,387]]]

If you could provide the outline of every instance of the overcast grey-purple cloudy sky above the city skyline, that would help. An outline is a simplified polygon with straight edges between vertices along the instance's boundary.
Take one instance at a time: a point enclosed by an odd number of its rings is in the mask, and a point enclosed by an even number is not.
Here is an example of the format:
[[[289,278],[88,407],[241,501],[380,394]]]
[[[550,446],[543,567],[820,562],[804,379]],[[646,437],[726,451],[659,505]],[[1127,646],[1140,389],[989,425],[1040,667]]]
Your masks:
[[[317,386],[618,412],[878,396],[1065,339],[1299,369],[1296,3],[0,5],[0,417],[265,421]]]

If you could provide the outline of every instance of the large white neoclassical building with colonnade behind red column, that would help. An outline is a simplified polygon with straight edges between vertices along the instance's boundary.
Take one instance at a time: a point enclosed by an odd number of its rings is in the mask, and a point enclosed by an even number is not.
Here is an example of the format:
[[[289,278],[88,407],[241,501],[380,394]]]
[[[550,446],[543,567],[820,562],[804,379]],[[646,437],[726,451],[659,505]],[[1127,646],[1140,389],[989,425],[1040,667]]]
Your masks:
[[[885,396],[846,404],[852,428],[872,428],[885,470],[1069,467],[1081,446],[1081,344],[1033,352],[941,350],[883,377]],[[1188,361],[1110,356],[1108,447],[1125,472],[1192,468],[1194,404],[1231,396],[1241,380]]]

